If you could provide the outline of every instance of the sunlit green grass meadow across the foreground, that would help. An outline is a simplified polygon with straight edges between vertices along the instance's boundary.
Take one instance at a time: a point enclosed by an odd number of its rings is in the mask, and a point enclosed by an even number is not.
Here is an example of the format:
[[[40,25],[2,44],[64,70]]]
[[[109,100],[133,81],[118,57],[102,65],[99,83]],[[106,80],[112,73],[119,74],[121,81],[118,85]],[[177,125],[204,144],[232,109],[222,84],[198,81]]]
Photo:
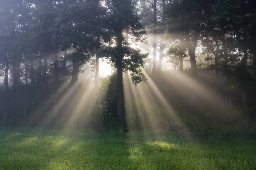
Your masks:
[[[256,170],[256,140],[2,128],[0,170]]]

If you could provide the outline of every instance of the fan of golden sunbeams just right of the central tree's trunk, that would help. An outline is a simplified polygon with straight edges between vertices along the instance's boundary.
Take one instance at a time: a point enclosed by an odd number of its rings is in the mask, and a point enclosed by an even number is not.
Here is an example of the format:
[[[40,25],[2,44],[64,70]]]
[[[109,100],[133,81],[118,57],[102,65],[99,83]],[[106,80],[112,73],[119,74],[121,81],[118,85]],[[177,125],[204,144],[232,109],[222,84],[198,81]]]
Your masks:
[[[157,132],[160,131],[161,128],[159,126],[159,123],[161,123],[159,122],[160,119],[168,118],[169,120],[180,122],[172,105],[167,102],[167,99],[151,77],[147,73],[145,73],[145,75],[148,78],[148,83],[141,83],[137,86],[132,84],[128,76],[125,76],[125,82],[128,82],[124,84],[125,106],[127,106],[128,102],[131,102],[131,100],[134,101],[135,105],[134,112],[131,112],[130,108],[125,109],[126,113],[128,113],[126,115],[128,123],[131,123],[131,119],[137,118],[143,129]],[[137,113],[137,115],[134,115],[134,113]],[[165,123],[168,124],[169,120],[166,120]]]

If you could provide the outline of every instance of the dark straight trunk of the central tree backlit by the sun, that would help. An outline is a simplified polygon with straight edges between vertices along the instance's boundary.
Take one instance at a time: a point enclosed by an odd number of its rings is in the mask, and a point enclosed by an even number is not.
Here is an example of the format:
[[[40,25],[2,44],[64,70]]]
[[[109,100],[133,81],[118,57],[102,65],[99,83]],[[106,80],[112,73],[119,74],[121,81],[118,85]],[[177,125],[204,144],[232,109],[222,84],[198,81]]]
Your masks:
[[[122,52],[123,35],[120,32],[117,36],[117,71],[116,71],[116,117],[124,117],[124,91],[123,91],[123,59]]]

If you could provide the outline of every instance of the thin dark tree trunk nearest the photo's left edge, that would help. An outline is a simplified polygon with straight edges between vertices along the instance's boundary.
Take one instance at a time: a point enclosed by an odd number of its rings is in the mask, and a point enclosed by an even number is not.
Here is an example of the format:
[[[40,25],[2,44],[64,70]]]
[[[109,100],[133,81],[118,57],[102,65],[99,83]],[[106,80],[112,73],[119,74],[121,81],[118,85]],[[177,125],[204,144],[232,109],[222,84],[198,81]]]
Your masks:
[[[6,54],[4,55],[4,60],[5,60],[5,70],[4,70],[5,104],[4,104],[3,121],[4,121],[4,123],[6,123],[7,119],[8,119],[8,114],[9,114],[9,84],[8,84],[9,61],[8,61],[8,57]]]

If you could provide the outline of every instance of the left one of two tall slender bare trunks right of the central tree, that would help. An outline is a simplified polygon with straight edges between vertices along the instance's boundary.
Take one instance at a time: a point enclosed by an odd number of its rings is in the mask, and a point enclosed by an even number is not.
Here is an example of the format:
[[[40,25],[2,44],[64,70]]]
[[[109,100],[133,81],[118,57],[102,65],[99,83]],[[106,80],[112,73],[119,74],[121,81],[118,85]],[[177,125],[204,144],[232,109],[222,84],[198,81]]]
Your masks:
[[[154,26],[153,26],[153,68],[152,74],[156,73],[156,65],[157,65],[157,0],[154,0],[153,4],[154,8]]]

